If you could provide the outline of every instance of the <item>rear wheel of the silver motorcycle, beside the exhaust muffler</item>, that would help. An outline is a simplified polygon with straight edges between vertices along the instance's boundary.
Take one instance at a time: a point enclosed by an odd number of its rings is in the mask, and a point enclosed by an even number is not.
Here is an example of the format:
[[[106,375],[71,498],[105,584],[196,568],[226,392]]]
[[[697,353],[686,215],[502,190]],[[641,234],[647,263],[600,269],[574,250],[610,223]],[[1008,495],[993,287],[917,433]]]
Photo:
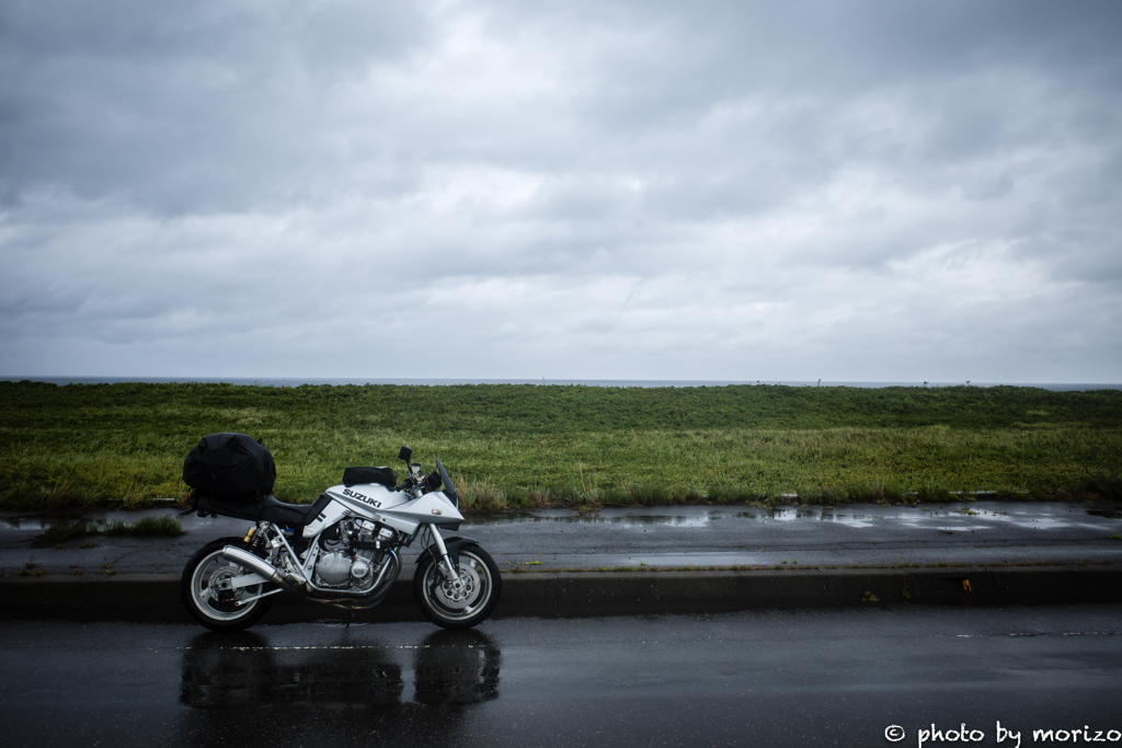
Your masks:
[[[222,556],[222,548],[233,545],[249,551],[240,537],[223,537],[195,551],[180,578],[180,595],[187,612],[212,631],[240,631],[261,619],[273,607],[273,598],[258,598],[238,604],[265,591],[267,584],[223,590],[222,582],[252,573]]]

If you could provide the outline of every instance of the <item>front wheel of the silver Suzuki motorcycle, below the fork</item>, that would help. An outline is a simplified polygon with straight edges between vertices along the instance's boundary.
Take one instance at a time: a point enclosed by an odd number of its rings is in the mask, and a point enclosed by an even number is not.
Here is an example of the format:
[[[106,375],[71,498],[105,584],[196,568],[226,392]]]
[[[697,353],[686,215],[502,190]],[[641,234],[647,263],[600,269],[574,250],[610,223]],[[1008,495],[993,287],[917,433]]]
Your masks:
[[[413,575],[413,597],[425,618],[441,628],[471,628],[495,610],[503,590],[498,566],[478,545],[459,551],[461,585],[444,579],[436,558],[425,558]]]

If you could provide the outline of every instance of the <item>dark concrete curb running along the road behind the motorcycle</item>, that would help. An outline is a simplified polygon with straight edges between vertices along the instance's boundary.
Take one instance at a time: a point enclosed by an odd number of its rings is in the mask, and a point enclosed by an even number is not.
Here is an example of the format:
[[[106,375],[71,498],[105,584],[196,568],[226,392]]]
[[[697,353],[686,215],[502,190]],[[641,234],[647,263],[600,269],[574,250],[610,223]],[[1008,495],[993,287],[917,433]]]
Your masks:
[[[265,624],[344,618],[280,593]],[[681,572],[539,572],[503,575],[496,617],[592,617],[850,608],[877,603],[1009,606],[1122,602],[1122,567],[940,566]],[[190,622],[175,574],[0,579],[0,620]],[[356,621],[423,620],[398,581]]]

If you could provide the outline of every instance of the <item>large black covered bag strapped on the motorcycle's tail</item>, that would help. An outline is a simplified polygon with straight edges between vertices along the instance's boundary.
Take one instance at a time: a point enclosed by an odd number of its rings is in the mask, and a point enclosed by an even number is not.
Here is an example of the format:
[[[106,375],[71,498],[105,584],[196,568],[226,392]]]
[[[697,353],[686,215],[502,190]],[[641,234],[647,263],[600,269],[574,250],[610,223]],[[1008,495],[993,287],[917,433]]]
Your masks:
[[[276,479],[273,455],[245,434],[203,436],[183,461],[183,482],[203,496],[257,501]]]

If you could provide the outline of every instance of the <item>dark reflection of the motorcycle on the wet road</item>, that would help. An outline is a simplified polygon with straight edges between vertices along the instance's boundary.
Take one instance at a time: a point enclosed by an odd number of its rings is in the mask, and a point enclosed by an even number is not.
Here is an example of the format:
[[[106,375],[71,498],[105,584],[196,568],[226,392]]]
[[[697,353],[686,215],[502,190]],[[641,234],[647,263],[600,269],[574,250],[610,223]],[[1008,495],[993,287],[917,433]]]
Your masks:
[[[370,635],[355,627],[330,643],[288,645],[251,631],[193,637],[183,647],[184,732],[239,748],[341,736],[448,745],[467,707],[499,695],[502,655],[486,634],[435,631],[416,645]]]

